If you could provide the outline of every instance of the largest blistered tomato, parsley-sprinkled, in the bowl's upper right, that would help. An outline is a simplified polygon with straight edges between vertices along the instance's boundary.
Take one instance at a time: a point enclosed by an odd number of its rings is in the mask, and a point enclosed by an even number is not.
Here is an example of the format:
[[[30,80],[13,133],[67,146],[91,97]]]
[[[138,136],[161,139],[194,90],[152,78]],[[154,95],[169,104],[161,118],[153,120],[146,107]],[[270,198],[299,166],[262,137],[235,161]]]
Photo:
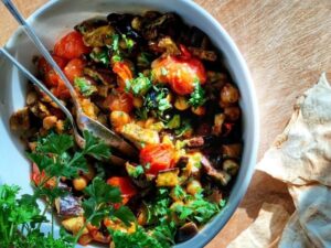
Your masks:
[[[182,55],[168,55],[153,61],[151,67],[158,83],[168,83],[179,95],[188,95],[194,90],[196,79],[200,84],[206,82],[206,73],[200,60],[191,56],[181,46]]]

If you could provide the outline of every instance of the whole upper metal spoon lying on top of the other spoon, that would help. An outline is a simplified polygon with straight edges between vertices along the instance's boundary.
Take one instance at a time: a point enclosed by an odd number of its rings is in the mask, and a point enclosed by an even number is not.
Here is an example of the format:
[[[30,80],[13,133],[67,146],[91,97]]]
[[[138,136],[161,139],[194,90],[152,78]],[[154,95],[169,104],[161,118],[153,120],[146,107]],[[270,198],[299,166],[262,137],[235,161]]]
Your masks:
[[[88,130],[90,131],[95,137],[98,137],[105,141],[106,144],[108,144],[111,148],[115,148],[116,150],[120,151],[121,153],[135,157],[137,155],[137,149],[135,149],[132,145],[130,145],[128,142],[126,142],[121,137],[116,134],[114,131],[109,130],[98,121],[89,118],[86,116],[81,107],[81,104],[78,101],[78,96],[70,83],[70,80],[66,78],[62,69],[58,67],[56,62],[53,60],[52,55],[47,51],[47,48],[43,45],[41,40],[38,37],[33,29],[26,23],[26,21],[23,19],[23,17],[20,14],[18,9],[14,7],[14,4],[10,0],[2,0],[3,4],[7,7],[7,9],[10,11],[10,13],[15,18],[15,20],[24,28],[25,33],[29,35],[29,37],[33,41],[36,48],[41,52],[41,54],[44,56],[44,58],[50,63],[50,65],[54,68],[54,71],[57,73],[57,75],[61,77],[61,79],[65,83],[65,86],[70,90],[70,94],[72,96],[75,109],[76,109],[76,122],[79,130]],[[74,122],[74,121],[72,121]],[[77,134],[77,130],[75,130],[75,136]]]

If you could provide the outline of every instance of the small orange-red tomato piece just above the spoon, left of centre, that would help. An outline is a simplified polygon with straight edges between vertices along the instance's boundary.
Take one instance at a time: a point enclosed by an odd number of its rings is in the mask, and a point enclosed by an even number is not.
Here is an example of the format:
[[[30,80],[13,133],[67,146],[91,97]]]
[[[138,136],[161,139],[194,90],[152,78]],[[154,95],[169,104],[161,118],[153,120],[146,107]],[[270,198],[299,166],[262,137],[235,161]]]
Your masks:
[[[108,95],[106,105],[111,111],[130,112],[134,109],[134,99],[130,94],[116,91]]]

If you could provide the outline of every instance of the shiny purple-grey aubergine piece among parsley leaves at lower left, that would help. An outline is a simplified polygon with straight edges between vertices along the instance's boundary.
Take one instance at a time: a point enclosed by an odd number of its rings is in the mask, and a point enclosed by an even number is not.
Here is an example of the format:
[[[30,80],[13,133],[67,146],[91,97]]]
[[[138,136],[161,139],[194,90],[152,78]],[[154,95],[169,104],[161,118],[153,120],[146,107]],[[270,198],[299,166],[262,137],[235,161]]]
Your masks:
[[[57,214],[65,217],[79,216],[83,214],[79,198],[67,194],[66,196],[55,200]]]

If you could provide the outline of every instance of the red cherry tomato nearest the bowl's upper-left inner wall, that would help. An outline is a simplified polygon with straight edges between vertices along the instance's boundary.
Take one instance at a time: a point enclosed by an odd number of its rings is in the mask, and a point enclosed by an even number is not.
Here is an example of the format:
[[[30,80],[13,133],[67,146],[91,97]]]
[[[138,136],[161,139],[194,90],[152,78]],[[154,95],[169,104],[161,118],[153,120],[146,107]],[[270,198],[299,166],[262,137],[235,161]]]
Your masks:
[[[90,48],[84,44],[83,36],[77,31],[66,34],[54,46],[54,54],[66,60],[73,60],[89,52]]]

